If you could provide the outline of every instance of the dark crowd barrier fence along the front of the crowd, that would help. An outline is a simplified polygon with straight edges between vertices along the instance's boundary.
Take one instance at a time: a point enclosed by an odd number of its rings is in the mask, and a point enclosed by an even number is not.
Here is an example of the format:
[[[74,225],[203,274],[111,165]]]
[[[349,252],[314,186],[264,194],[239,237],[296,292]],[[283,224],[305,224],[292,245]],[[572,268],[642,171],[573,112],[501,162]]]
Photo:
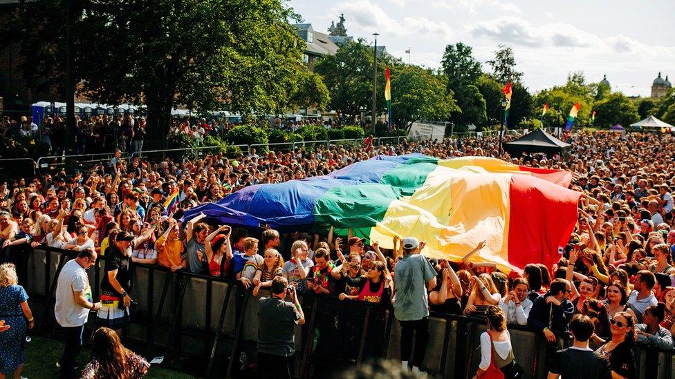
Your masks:
[[[10,249],[12,246],[10,246]],[[73,251],[50,247],[26,249],[26,261],[19,265],[20,280],[32,301],[44,305],[36,313],[37,330],[53,322],[56,279]],[[100,280],[105,257],[87,272],[93,300],[100,298]],[[252,296],[237,280],[177,271],[155,265],[133,264],[131,298],[138,303],[124,336],[141,342],[147,358],[164,349],[165,365],[184,356],[201,357],[198,367],[205,376],[240,375],[237,363],[255,356],[258,320],[255,301],[269,292]],[[333,296],[305,295],[304,327],[295,331],[296,376],[324,376],[351,365],[362,365],[370,358],[400,359],[400,328],[391,309],[379,304],[340,301]],[[90,316],[89,326],[95,327]],[[479,365],[480,334],[484,321],[460,315],[432,313],[430,339],[423,369],[436,377],[471,378]],[[544,338],[526,327],[509,326],[517,362],[524,367],[524,378],[546,377],[547,346]],[[567,347],[568,338],[559,346]],[[673,378],[673,351],[636,348],[638,378]],[[250,360],[250,358],[248,358]],[[254,359],[255,361],[255,359]],[[219,368],[216,371],[216,368]],[[333,370],[333,371],[331,371]]]

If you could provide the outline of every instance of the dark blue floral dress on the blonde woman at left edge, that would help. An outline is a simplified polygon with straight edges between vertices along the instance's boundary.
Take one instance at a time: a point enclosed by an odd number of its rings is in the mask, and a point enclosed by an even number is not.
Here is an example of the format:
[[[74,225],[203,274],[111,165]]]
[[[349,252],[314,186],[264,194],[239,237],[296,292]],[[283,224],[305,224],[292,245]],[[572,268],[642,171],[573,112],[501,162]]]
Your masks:
[[[10,373],[26,362],[26,318],[21,303],[28,300],[22,286],[0,287],[0,320],[10,329],[0,333],[0,372]]]

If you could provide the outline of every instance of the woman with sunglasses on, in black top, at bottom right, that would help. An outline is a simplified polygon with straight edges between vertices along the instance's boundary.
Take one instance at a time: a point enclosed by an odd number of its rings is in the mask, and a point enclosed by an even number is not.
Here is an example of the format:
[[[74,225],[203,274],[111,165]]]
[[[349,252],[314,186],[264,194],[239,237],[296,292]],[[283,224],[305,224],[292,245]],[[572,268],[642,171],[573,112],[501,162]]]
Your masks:
[[[595,333],[591,339],[602,344],[595,353],[607,360],[612,378],[634,379],[637,377],[633,347],[635,346],[635,319],[630,313],[618,312],[609,319],[611,338],[605,341]]]

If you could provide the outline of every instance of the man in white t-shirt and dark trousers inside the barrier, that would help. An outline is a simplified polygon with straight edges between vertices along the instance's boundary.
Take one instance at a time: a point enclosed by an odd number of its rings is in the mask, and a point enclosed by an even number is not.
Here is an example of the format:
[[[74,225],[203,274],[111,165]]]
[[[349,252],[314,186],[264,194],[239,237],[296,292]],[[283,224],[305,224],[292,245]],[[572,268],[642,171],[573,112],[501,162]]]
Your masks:
[[[61,368],[64,377],[75,373],[75,358],[82,351],[82,332],[89,311],[101,309],[100,302],[91,301],[91,287],[86,275],[86,270],[95,262],[93,249],[80,251],[74,260],[64,264],[57,280],[54,315],[64,329],[66,346],[56,366]]]

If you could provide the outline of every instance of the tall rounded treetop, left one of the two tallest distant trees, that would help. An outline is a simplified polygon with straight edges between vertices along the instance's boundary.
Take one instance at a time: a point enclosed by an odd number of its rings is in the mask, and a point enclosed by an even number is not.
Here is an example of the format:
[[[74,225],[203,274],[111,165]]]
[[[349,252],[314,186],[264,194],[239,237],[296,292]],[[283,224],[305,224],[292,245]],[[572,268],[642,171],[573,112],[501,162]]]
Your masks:
[[[473,57],[471,46],[461,42],[445,46],[441,66],[447,77],[448,91],[475,84],[481,75],[481,63]]]

